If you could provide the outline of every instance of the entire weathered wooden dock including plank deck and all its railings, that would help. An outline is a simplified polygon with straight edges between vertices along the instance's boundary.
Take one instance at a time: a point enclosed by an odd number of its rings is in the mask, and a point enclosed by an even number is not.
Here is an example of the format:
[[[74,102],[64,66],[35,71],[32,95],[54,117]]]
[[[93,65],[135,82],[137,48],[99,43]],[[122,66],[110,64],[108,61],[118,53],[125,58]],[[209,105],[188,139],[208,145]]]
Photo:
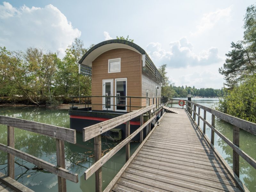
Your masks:
[[[200,115],[200,109],[203,116]],[[206,112],[212,116],[211,123],[206,120]],[[140,127],[130,134],[130,121],[137,116],[140,116]],[[146,121],[145,116],[148,117]],[[233,141],[215,128],[215,117],[233,125]],[[199,127],[200,120],[203,121],[203,131]],[[159,124],[151,126],[156,121]],[[58,175],[60,192],[67,191],[66,179],[78,182],[78,174],[65,169],[64,153],[64,141],[76,143],[75,130],[6,116],[0,116],[0,124],[7,125],[7,145],[0,143],[0,150],[7,152],[8,162],[7,175],[0,172],[0,192],[32,192],[14,180],[14,156]],[[125,124],[125,139],[101,156],[101,135],[120,124]],[[205,135],[206,126],[211,129],[210,139]],[[14,127],[56,139],[57,166],[15,149]],[[256,124],[189,100],[186,108],[169,108],[163,103],[158,103],[158,106],[153,104],[83,129],[83,141],[94,138],[95,153],[95,163],[85,170],[84,179],[87,180],[95,173],[95,191],[102,192],[102,166],[125,147],[126,163],[104,192],[247,192],[248,189],[239,179],[239,158],[243,158],[254,169],[256,161],[239,148],[240,129],[256,135]],[[146,131],[145,139],[143,131]],[[130,141],[137,134],[140,134],[140,146],[130,154]],[[233,149],[233,170],[214,147],[215,134]]]

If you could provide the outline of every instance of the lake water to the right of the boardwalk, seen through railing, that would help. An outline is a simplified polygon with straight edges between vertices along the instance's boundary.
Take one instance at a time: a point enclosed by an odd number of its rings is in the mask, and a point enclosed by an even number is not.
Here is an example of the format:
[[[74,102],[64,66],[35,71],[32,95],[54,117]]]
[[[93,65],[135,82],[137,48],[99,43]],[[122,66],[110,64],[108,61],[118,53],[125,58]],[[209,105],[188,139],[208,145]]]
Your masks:
[[[187,98],[174,98],[174,99],[187,99]],[[214,108],[219,102],[218,98],[192,98],[193,102],[201,104],[205,107]],[[175,104],[173,107],[179,107]],[[198,108],[196,108],[198,112]],[[203,110],[200,110],[203,114]],[[201,115],[202,116],[202,115]],[[212,115],[206,112],[206,120],[211,123]],[[196,116],[196,122],[198,121]],[[200,128],[203,129],[203,121],[200,120]],[[233,141],[233,125],[226,123],[218,118],[215,119],[215,127],[223,135],[225,135],[229,140]],[[206,135],[211,138],[211,129],[206,125]],[[256,159],[256,135],[248,133],[240,129],[240,148],[251,156],[253,159]],[[233,149],[228,146],[216,133],[214,134],[214,147],[217,148],[219,153],[224,157],[226,162],[232,168],[233,166]],[[251,191],[256,191],[256,170],[249,165],[242,157],[240,157],[240,176],[239,178],[243,181],[245,186]]]

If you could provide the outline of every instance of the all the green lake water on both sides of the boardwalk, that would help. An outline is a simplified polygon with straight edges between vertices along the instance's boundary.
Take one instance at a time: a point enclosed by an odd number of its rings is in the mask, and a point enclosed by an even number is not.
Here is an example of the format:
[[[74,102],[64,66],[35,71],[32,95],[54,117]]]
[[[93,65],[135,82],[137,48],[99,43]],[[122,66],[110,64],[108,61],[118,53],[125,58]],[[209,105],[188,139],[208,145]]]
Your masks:
[[[175,98],[177,99],[177,98]],[[178,98],[187,99],[187,98]],[[192,101],[213,107],[219,102],[217,98],[192,98]],[[173,107],[178,107],[173,104]],[[46,108],[0,108],[0,115],[12,116],[21,119],[32,120],[41,123],[58,125],[69,128],[68,110],[49,110]],[[206,119],[211,122],[211,115],[207,113]],[[197,119],[196,119],[197,121]],[[203,122],[200,122],[203,125]],[[233,140],[233,129],[230,124],[224,123],[216,119],[216,129],[223,133],[228,139]],[[210,128],[206,126],[206,134],[210,138]],[[66,169],[78,173],[78,183],[73,183],[67,180],[67,191],[94,191],[95,180],[94,175],[88,180],[84,180],[84,171],[94,163],[93,140],[87,142],[82,141],[82,134],[77,132],[77,143],[65,143],[65,159]],[[7,143],[7,129],[5,125],[0,125],[0,142]],[[102,138],[102,150],[113,148],[117,143]],[[131,154],[139,146],[139,143],[131,143]],[[232,167],[232,152],[233,150],[223,142],[215,134],[214,146],[222,154],[228,164]],[[256,136],[240,130],[240,147],[248,155],[256,159]],[[40,159],[56,164],[56,143],[55,139],[40,134],[24,131],[15,128],[15,148],[20,149],[28,154],[36,156]],[[106,152],[108,152],[106,150]],[[105,153],[106,153],[105,152]],[[15,164],[15,179],[23,185],[31,188],[34,191],[58,191],[57,176],[47,171],[33,170],[33,164],[25,162],[19,158],[15,158],[18,164],[25,165],[29,169]],[[125,148],[122,148],[102,167],[103,189],[114,178],[116,173],[125,163]],[[7,172],[7,154],[0,151],[0,171],[6,174]],[[240,158],[240,179],[250,191],[256,191],[256,171]]]

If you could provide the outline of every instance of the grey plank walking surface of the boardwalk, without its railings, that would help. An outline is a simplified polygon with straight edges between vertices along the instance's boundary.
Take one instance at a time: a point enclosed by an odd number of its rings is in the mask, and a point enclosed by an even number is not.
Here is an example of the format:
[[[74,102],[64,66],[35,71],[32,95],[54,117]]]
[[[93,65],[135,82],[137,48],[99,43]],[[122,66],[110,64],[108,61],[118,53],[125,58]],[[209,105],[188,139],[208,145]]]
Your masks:
[[[185,109],[166,113],[112,191],[241,191]]]

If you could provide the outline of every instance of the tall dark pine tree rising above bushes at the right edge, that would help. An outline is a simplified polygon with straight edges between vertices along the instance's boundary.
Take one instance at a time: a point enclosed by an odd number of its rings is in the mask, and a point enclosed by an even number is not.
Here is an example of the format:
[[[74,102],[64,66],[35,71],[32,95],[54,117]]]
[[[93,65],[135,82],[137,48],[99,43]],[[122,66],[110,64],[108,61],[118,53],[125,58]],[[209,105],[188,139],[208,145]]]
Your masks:
[[[219,68],[224,75],[225,85],[231,89],[238,87],[248,76],[256,73],[256,7],[247,7],[244,16],[244,39],[232,42],[223,67]]]

